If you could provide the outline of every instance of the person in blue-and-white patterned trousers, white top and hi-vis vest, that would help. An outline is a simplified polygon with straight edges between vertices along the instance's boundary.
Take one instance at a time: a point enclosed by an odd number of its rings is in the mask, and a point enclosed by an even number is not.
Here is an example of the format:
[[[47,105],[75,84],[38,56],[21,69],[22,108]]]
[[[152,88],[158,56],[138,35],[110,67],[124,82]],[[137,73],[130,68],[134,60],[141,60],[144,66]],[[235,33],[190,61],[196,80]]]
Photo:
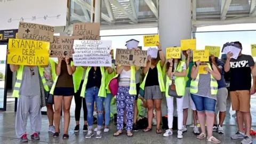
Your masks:
[[[139,48],[133,48],[135,51],[139,51]],[[121,66],[116,67],[117,75],[119,76],[118,82],[118,92],[116,95],[117,103],[117,132],[114,136],[117,137],[123,134],[123,126],[126,111],[126,134],[127,137],[132,137],[132,126],[133,126],[133,109],[135,95],[137,94],[136,83],[135,83],[135,73],[140,67],[135,66]],[[107,86],[108,89],[109,86]]]

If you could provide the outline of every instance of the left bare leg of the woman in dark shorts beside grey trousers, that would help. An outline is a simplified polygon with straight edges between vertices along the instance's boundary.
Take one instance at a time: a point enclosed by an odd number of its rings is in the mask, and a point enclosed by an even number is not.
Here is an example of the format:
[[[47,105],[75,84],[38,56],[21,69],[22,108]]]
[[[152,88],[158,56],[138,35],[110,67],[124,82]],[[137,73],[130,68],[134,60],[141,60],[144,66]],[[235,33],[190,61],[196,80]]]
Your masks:
[[[60,113],[62,107],[63,96],[54,95],[54,124],[55,124],[55,132],[60,132]]]

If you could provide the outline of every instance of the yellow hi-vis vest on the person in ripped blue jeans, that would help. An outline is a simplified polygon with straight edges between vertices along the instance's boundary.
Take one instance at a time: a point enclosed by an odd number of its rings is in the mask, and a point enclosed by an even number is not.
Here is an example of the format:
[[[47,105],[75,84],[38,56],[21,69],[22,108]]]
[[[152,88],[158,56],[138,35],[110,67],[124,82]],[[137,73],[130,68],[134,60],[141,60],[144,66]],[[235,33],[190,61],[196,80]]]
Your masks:
[[[81,97],[85,97],[85,92],[86,92],[86,85],[88,82],[88,75],[89,75],[89,71],[92,67],[87,67],[86,69],[86,73],[85,73],[85,77],[84,77],[84,83],[82,86],[82,90],[81,90]],[[100,67],[100,72],[101,72],[101,85],[100,85],[100,90],[99,90],[99,97],[104,97],[106,98],[106,89],[105,89],[105,68],[104,67]]]

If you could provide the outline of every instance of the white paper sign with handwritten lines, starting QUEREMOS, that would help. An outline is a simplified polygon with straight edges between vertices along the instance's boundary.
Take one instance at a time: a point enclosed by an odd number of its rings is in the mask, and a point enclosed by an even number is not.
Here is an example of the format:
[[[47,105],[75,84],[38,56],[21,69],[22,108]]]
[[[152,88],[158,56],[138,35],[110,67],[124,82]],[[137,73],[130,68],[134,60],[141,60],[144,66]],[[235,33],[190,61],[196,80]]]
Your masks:
[[[111,67],[112,41],[74,40],[74,66]]]

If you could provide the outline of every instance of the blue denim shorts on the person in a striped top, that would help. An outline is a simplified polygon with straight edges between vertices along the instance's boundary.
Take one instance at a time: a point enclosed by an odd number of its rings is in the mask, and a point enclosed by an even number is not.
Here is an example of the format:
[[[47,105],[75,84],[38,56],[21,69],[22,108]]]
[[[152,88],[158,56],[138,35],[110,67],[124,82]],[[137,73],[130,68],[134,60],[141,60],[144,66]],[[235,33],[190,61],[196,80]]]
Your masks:
[[[191,93],[191,98],[194,101],[196,110],[198,112],[207,111],[215,113],[216,100],[207,97],[201,97],[193,93]]]

